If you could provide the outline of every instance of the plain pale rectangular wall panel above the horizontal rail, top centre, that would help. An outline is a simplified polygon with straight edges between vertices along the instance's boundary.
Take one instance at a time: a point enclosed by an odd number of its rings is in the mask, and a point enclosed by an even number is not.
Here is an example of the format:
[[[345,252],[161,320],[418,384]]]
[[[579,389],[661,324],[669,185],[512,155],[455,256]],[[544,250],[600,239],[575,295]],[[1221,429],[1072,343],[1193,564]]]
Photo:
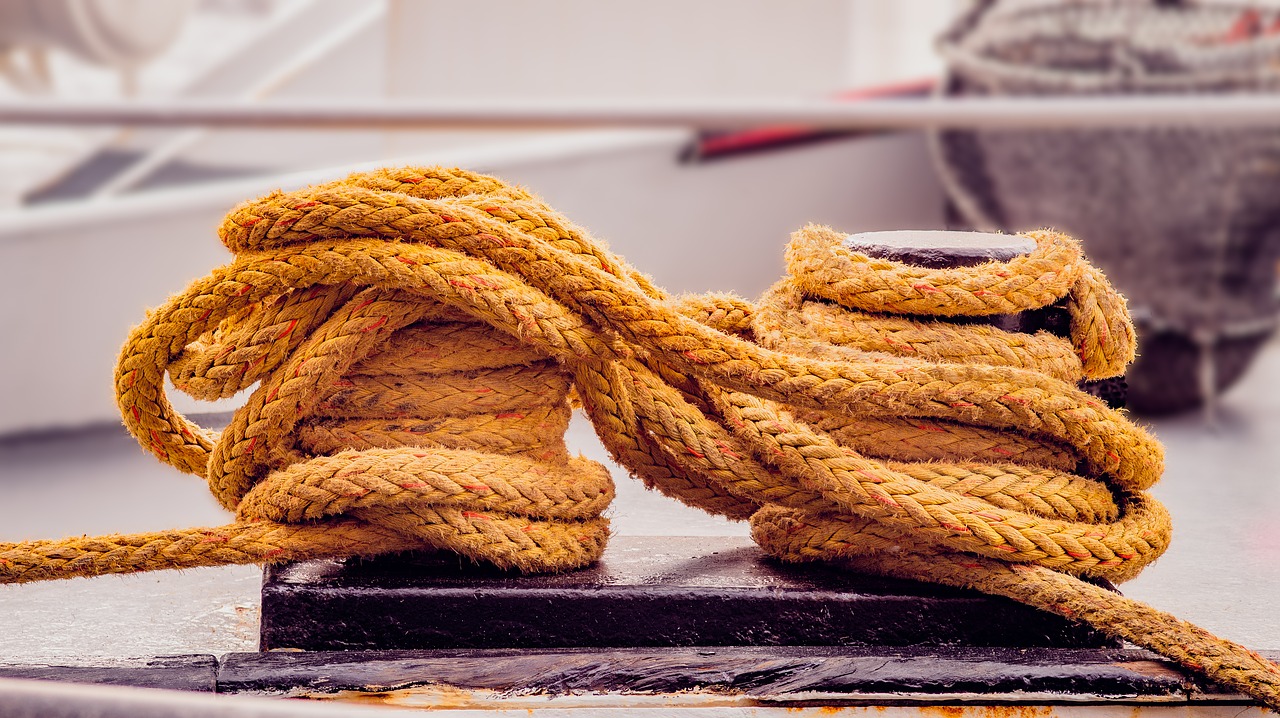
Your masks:
[[[393,0],[393,97],[814,96],[846,87],[854,3]]]

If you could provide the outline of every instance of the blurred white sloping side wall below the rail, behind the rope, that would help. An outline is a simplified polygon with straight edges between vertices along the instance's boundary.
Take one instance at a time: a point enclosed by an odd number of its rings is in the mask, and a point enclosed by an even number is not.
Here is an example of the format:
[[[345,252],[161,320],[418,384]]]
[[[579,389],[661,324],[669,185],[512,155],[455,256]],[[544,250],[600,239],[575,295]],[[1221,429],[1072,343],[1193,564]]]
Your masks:
[[[758,296],[782,276],[782,247],[808,221],[846,232],[941,227],[942,195],[919,136],[694,165],[678,163],[686,138],[552,136],[415,164],[522,183],[676,293]],[[348,169],[0,215],[0,372],[15,378],[0,385],[0,434],[115,421],[111,371],[129,328],[229,260],[214,234],[221,215]]]

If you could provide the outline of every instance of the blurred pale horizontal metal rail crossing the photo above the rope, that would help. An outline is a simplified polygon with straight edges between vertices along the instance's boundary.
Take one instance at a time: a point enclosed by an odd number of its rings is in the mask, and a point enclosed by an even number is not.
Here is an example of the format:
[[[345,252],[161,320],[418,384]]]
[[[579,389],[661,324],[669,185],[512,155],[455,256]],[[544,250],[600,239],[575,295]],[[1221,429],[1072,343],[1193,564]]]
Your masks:
[[[1280,123],[1280,95],[1036,99],[876,99],[832,101],[335,101],[211,100],[22,101],[0,106],[0,123],[59,125],[564,129],[800,125],[823,129],[932,127],[1242,127]]]

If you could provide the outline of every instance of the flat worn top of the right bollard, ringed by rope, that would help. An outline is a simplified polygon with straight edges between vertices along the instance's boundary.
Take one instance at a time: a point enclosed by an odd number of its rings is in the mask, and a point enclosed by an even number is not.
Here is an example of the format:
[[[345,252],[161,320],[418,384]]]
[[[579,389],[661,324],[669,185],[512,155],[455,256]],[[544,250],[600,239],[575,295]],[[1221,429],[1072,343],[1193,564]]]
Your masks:
[[[845,247],[882,260],[929,269],[973,266],[1027,255],[1036,241],[1018,234],[950,232],[945,229],[896,229],[860,232],[845,238]]]

